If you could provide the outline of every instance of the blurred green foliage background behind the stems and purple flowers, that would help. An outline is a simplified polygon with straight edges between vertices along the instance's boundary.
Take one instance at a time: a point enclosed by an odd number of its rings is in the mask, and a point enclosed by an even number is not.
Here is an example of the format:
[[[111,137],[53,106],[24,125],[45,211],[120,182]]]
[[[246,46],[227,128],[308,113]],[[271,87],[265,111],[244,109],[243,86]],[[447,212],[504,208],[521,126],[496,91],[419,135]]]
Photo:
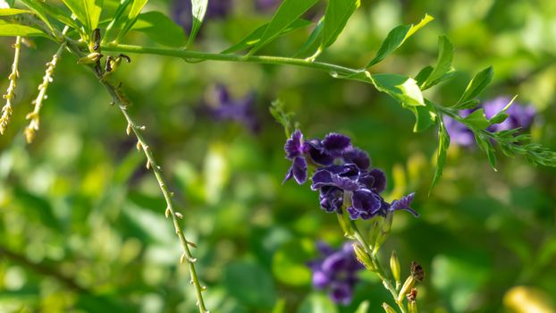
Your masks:
[[[215,2],[222,0],[214,0]],[[148,10],[172,14],[170,1]],[[324,12],[321,5],[315,10]],[[556,2],[455,0],[365,2],[319,60],[365,64],[388,30],[435,20],[375,72],[417,74],[433,64],[437,38],[455,47],[448,83],[426,91],[454,103],[475,72],[493,64],[484,99],[518,94],[539,112],[535,141],[556,149]],[[208,19],[196,49],[220,51],[268,21],[272,10],[236,0]],[[261,53],[293,55],[310,30],[297,30]],[[154,45],[140,33],[125,42]],[[13,38],[0,39],[1,88],[7,88]],[[23,47],[13,121],[0,137],[0,312],[194,312],[195,300],[164,199],[145,159],[126,136],[122,114],[90,73],[63,55],[31,145],[22,130],[45,63],[57,47],[36,39]],[[308,186],[282,183],[285,140],[268,106],[281,98],[309,137],[351,136],[389,178],[389,199],[417,192],[417,219],[397,214],[383,250],[396,250],[402,275],[416,260],[423,312],[554,312],[556,171],[501,157],[493,172],[477,149],[452,147],[441,182],[434,173],[436,134],[412,133],[413,116],[369,85],[324,72],[250,63],[184,63],[131,55],[117,72],[139,123],[198,244],[201,280],[211,312],[369,312],[390,301],[373,275],[362,273],[349,307],[333,305],[310,285],[305,262],[313,243],[340,245],[335,216],[318,207]],[[215,122],[202,114],[216,83],[232,98],[256,95],[261,125]],[[538,310],[535,310],[538,309]]]

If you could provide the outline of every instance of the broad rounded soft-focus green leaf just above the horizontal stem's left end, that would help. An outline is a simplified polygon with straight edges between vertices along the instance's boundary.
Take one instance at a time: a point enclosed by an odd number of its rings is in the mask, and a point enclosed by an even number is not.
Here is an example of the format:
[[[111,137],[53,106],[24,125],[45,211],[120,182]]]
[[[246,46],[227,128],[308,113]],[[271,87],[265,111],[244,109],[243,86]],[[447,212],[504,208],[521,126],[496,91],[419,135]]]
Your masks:
[[[180,26],[164,13],[155,11],[139,14],[133,30],[141,31],[157,43],[169,47],[182,47],[187,40]]]

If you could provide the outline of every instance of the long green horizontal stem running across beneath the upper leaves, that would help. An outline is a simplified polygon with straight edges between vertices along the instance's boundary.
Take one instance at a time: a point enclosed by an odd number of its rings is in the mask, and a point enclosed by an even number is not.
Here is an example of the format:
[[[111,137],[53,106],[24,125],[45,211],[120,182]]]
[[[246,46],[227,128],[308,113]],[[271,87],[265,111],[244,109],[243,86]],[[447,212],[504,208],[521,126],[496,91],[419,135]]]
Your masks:
[[[326,71],[332,74],[350,75],[357,74],[364,70],[351,69],[340,65],[310,62],[305,59],[283,57],[283,56],[268,56],[268,55],[220,55],[213,53],[205,53],[191,50],[181,50],[179,48],[169,47],[139,47],[121,44],[107,44],[103,45],[104,51],[112,51],[119,53],[130,53],[139,55],[166,55],[175,56],[186,61],[191,60],[212,60],[212,61],[230,61],[230,62],[247,62],[247,63],[267,63],[267,64],[288,64],[301,67],[313,68],[316,70]]]

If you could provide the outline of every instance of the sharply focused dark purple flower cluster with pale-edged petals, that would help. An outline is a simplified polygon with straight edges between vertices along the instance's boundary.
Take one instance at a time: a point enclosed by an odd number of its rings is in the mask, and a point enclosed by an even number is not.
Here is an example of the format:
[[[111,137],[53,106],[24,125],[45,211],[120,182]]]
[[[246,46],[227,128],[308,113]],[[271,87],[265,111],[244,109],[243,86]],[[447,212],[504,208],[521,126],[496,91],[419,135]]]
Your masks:
[[[380,194],[386,188],[386,175],[378,168],[371,169],[366,152],[353,147],[347,136],[330,133],[324,140],[304,140],[301,131],[296,130],[284,150],[291,160],[284,182],[294,178],[302,184],[307,181],[307,166],[316,167],[311,189],[319,191],[320,206],[326,212],[342,214],[341,207],[346,204],[353,220],[386,216],[396,210],[418,216],[409,207],[414,193],[392,203],[384,201]]]

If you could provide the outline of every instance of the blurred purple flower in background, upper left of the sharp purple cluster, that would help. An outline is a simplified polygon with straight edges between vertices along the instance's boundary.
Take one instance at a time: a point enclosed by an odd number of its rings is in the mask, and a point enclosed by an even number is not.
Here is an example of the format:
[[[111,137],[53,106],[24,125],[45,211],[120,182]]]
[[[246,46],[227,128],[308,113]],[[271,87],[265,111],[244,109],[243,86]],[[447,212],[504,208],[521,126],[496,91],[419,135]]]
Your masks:
[[[240,99],[230,98],[228,89],[216,85],[212,91],[210,105],[206,110],[216,121],[235,121],[242,123],[250,131],[259,130],[259,122],[255,113],[255,95],[250,93]]]

